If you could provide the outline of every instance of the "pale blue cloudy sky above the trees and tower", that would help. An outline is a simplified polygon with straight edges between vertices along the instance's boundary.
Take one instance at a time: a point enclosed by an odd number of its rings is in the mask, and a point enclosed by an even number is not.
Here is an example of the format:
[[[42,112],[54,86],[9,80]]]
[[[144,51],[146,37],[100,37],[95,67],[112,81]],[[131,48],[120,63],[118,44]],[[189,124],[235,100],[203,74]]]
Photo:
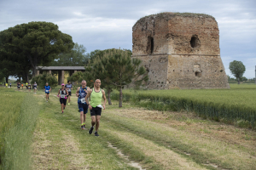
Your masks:
[[[210,14],[218,22],[220,55],[227,75],[239,60],[247,78],[255,77],[255,0],[0,0],[0,31],[31,21],[53,22],[59,30],[96,49],[132,49],[132,26],[149,14]],[[232,77],[232,76],[231,76]]]

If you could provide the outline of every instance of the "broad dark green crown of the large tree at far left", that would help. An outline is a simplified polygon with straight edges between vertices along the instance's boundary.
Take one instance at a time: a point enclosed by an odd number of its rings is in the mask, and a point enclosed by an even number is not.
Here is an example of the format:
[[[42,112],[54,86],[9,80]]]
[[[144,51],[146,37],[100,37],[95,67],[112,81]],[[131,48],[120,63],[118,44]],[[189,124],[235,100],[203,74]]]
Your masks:
[[[33,76],[38,65],[49,65],[58,54],[70,51],[73,45],[72,37],[50,22],[29,22],[0,32],[0,51],[5,54],[4,59],[19,58],[21,64],[15,62],[15,66],[26,72],[27,68],[32,69]]]

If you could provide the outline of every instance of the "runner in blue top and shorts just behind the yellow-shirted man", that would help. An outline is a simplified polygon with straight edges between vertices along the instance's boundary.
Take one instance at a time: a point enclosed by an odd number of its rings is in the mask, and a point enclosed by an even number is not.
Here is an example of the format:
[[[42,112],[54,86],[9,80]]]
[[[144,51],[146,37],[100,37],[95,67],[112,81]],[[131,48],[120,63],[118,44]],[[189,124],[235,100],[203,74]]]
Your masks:
[[[85,119],[86,119],[86,113],[88,112],[88,105],[86,104],[84,98],[85,98],[86,94],[88,94],[88,90],[90,88],[86,87],[86,81],[85,80],[83,80],[81,82],[81,85],[82,86],[77,89],[76,95],[78,97],[81,129],[85,129]]]

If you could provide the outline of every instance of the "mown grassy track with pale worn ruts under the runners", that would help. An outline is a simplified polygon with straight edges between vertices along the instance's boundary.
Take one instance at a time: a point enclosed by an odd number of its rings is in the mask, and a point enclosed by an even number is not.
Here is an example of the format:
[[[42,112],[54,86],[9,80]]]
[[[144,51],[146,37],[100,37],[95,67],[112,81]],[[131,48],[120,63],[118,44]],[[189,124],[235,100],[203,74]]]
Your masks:
[[[30,167],[18,169],[251,170],[256,167],[256,132],[251,129],[212,122],[188,111],[150,111],[131,102],[119,108],[117,101],[113,101],[113,105],[102,111],[100,137],[95,137],[88,134],[90,115],[87,115],[87,129],[80,129],[74,95],[71,105],[61,114],[56,92],[50,94],[48,103],[42,91],[26,92],[13,89],[6,92],[24,95],[20,104],[22,115],[31,110],[38,113],[31,119],[36,121],[29,121],[35,124],[24,122],[30,127],[21,129],[29,129],[24,136],[32,141],[31,150],[26,152],[32,161]],[[27,100],[36,107],[26,105]],[[15,143],[9,148],[25,147]],[[7,152],[21,153],[13,149]],[[16,159],[24,161],[21,156]]]

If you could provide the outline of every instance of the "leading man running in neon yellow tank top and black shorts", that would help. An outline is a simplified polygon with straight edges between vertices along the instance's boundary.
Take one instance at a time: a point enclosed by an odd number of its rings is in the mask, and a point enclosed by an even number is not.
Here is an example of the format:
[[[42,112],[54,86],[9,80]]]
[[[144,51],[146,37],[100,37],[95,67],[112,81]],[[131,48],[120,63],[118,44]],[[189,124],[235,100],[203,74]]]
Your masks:
[[[90,98],[90,117],[91,117],[91,127],[89,133],[91,134],[96,124],[95,136],[99,136],[98,129],[100,127],[100,119],[102,115],[102,108],[105,110],[105,105],[107,102],[105,91],[101,89],[101,80],[96,79],[94,82],[94,88],[88,91],[88,94],[85,97],[85,102],[89,104],[88,98]],[[102,106],[102,98],[104,99],[104,104]]]

